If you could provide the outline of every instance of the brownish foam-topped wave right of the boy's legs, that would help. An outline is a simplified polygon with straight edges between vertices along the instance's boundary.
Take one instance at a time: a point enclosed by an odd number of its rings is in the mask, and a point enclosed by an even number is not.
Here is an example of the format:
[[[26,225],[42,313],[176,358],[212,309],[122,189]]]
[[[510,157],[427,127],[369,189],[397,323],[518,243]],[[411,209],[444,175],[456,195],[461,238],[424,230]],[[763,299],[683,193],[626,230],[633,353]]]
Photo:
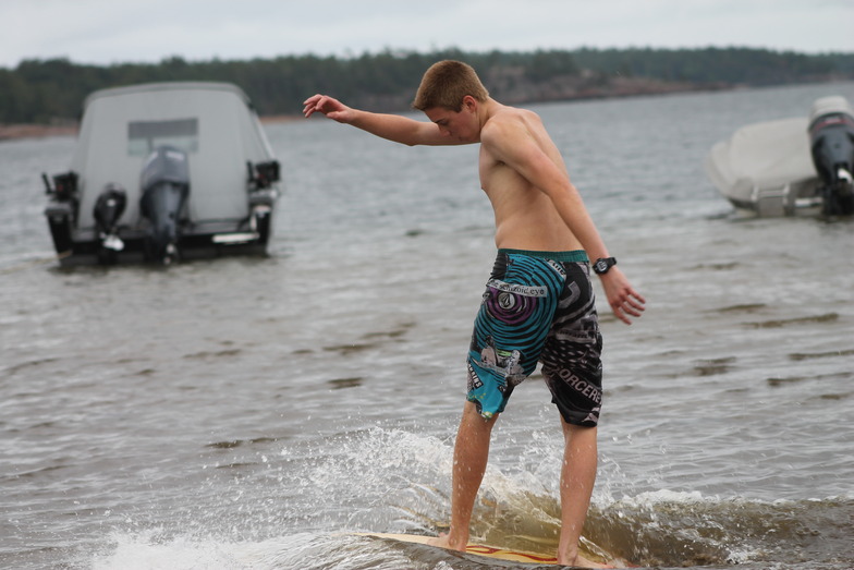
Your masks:
[[[854,562],[854,498],[773,502],[656,492],[591,513],[589,536],[647,566]]]

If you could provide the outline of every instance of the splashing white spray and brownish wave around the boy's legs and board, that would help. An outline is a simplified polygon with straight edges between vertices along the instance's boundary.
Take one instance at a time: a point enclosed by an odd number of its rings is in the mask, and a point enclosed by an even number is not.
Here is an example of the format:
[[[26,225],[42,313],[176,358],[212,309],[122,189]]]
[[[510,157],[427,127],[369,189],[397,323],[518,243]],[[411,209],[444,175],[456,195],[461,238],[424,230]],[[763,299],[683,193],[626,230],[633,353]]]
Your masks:
[[[301,463],[303,484],[254,539],[196,525],[192,533],[114,533],[89,559],[95,569],[400,569],[484,568],[476,560],[353,532],[436,534],[447,527],[452,456],[447,441],[375,428],[282,449]],[[333,451],[334,450],[334,451]],[[560,506],[540,474],[490,468],[472,522],[473,538],[542,554],[557,547]],[[346,482],[346,484],[344,484]],[[253,485],[263,482],[253,482]],[[270,484],[266,482],[265,484]],[[279,484],[288,482],[278,481]],[[854,566],[854,496],[764,501],[657,490],[620,499],[595,497],[583,548],[646,567],[826,568]],[[255,521],[258,524],[260,521]],[[305,530],[296,531],[300,526]]]

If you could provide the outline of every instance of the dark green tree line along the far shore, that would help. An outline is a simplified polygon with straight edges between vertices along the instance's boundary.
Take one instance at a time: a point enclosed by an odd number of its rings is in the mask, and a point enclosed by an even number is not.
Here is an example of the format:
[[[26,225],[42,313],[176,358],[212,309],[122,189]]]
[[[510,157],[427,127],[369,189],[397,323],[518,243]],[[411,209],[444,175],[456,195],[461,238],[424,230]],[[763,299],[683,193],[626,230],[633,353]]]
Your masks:
[[[0,68],[0,123],[57,123],[78,119],[91,92],[136,83],[234,83],[259,114],[293,114],[315,93],[329,93],[373,110],[408,109],[424,70],[461,59],[490,93],[507,102],[533,102],[638,93],[725,88],[854,78],[854,53],[808,56],[747,48],[589,49],[533,52],[430,53],[386,50],[358,57],[286,56],[273,59],[86,65],[68,59],[26,60]]]

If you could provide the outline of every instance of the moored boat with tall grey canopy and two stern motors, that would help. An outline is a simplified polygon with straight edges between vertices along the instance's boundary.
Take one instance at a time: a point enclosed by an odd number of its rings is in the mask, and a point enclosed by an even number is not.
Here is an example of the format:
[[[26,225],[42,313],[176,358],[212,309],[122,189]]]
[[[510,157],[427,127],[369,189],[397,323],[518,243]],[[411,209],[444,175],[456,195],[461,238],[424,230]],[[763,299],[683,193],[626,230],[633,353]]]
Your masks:
[[[150,83],[89,95],[68,172],[42,175],[62,265],[266,253],[279,161],[239,87]]]

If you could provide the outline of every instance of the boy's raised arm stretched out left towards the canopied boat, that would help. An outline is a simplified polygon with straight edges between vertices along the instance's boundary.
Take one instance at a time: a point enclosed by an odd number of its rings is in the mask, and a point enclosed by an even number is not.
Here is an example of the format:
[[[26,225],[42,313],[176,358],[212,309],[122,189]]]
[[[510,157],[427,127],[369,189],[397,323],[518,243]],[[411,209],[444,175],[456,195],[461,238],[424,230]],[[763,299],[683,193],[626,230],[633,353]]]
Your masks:
[[[373,113],[353,109],[328,95],[314,95],[303,105],[305,117],[320,112],[339,123],[356,126],[395,143],[408,146],[459,144],[443,135],[435,123],[416,121],[399,114]]]

